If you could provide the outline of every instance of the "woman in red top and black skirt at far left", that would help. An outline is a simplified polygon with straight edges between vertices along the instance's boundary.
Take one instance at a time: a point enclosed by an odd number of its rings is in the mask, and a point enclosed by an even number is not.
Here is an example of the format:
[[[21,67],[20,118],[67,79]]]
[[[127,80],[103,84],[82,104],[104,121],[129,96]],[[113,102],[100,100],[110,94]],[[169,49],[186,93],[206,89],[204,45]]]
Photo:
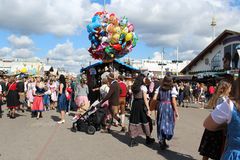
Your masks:
[[[7,107],[10,109],[9,117],[15,118],[15,110],[20,105],[15,77],[10,77],[9,79],[9,83],[7,84],[6,99]]]

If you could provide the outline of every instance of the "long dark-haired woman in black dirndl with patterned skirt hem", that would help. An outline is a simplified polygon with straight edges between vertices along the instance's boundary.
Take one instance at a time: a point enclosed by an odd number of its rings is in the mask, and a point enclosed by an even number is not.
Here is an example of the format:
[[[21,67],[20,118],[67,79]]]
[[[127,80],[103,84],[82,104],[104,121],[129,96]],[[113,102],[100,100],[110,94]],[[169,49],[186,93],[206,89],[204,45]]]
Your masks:
[[[154,143],[151,138],[148,116],[150,115],[149,103],[147,100],[146,84],[150,82],[146,75],[140,74],[134,81],[132,86],[133,103],[129,118],[129,135],[131,141],[129,146],[137,146],[136,137],[142,134],[146,135],[146,144]]]

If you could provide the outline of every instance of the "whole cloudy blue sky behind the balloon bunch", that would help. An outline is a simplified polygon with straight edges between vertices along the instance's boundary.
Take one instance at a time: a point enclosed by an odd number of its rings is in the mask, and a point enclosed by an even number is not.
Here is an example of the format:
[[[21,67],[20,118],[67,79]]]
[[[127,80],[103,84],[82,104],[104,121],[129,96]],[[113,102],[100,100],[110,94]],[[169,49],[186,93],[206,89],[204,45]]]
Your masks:
[[[133,59],[159,59],[164,48],[164,59],[175,60],[179,47],[179,59],[191,60],[212,41],[213,16],[216,35],[240,31],[239,6],[238,0],[106,0],[109,13],[135,26],[139,41],[127,55]],[[69,69],[91,61],[87,19],[102,10],[103,0],[0,0],[0,56],[50,57]]]

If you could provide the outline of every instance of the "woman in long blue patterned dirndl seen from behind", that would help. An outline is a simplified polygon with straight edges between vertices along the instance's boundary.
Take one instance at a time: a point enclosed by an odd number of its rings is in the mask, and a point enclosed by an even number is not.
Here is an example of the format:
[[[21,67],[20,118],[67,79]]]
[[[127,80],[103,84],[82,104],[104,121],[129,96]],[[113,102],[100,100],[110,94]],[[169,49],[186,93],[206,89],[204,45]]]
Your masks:
[[[178,92],[173,87],[173,80],[170,75],[166,75],[162,81],[161,87],[155,91],[153,97],[157,100],[159,97],[159,106],[157,108],[157,136],[162,150],[168,148],[166,140],[171,140],[174,134],[175,120],[178,117],[176,97]]]

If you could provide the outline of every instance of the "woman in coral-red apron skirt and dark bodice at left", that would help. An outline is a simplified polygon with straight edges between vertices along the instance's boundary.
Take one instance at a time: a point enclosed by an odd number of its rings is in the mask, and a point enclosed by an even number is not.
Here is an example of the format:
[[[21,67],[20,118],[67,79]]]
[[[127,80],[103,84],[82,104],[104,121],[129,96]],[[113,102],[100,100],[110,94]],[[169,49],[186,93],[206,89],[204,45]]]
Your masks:
[[[42,111],[44,110],[43,107],[43,95],[44,95],[44,83],[43,80],[38,77],[36,80],[36,87],[33,90],[33,105],[32,105],[32,112],[37,113],[37,119],[42,117]]]

